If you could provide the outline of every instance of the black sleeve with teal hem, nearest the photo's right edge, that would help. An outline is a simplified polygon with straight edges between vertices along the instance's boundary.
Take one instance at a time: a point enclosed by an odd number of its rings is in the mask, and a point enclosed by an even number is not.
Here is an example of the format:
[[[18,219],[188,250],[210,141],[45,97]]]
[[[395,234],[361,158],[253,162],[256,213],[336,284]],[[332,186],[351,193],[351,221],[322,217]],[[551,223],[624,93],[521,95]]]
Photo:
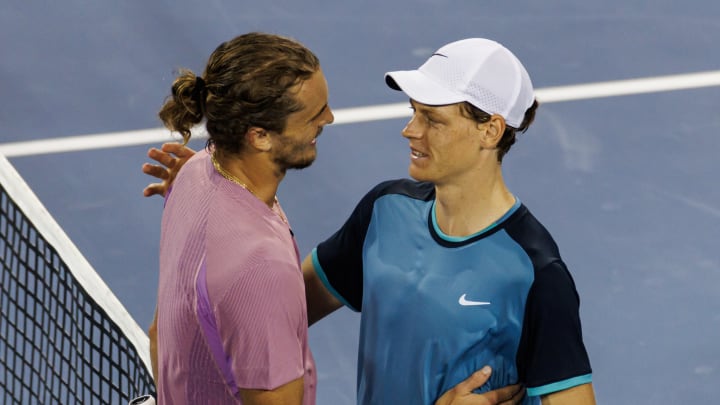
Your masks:
[[[529,396],[591,382],[579,309],[575,283],[562,261],[536,271],[518,350],[518,370]]]

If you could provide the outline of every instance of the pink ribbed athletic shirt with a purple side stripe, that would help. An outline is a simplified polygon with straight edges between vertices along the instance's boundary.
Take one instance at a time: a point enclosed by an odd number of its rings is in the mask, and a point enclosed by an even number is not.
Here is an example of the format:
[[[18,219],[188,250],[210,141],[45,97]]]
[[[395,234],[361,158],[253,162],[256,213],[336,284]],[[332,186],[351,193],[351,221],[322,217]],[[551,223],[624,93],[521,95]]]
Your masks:
[[[175,179],[160,237],[158,404],[237,404],[238,387],[300,377],[303,404],[315,404],[300,256],[274,210],[207,151]]]

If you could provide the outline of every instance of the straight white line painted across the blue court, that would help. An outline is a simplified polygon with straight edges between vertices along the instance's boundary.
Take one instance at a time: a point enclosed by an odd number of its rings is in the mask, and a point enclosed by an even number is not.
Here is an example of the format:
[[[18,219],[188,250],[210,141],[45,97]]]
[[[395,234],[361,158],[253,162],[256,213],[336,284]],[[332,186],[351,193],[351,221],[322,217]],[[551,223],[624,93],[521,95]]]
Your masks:
[[[559,103],[563,101],[657,93],[712,86],[720,86],[720,70],[572,86],[546,87],[536,89],[535,95],[540,103]],[[410,116],[410,113],[411,111],[408,108],[407,102],[343,108],[334,110],[335,123],[333,125],[403,118]],[[198,128],[197,131],[193,131],[193,137],[205,138],[207,134],[204,129]],[[180,138],[178,135],[171,135],[165,128],[152,128],[137,131],[40,139],[26,142],[8,142],[0,144],[0,154],[7,157],[41,155],[47,153],[160,144],[173,139],[178,140]]]

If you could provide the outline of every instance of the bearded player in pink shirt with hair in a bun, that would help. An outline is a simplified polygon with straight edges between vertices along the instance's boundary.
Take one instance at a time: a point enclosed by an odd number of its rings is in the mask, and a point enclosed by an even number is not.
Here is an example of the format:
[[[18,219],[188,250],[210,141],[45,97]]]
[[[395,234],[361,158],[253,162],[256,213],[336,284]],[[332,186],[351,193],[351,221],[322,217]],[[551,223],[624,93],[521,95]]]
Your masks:
[[[159,115],[185,141],[205,120],[209,140],[163,211],[158,403],[314,404],[300,256],[275,194],[333,121],[317,57],[288,38],[239,36],[202,76],[181,71]]]

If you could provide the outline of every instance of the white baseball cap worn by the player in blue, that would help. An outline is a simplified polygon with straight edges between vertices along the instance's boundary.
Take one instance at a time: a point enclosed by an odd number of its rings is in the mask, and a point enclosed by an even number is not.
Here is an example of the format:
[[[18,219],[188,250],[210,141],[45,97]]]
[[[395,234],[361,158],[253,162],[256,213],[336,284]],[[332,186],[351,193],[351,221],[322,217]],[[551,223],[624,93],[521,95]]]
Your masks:
[[[530,76],[507,48],[484,38],[469,38],[438,49],[417,70],[385,74],[385,82],[427,105],[467,101],[498,114],[518,128],[535,94]]]

